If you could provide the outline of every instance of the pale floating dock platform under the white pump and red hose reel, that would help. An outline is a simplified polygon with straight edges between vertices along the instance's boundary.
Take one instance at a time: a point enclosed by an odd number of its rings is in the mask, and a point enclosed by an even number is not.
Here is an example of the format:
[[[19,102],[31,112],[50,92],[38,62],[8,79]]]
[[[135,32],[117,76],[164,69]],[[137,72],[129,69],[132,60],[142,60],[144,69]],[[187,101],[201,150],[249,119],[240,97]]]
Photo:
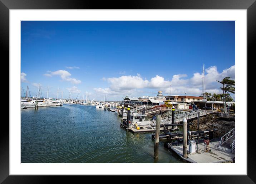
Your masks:
[[[220,147],[218,145],[220,141],[211,142],[210,149],[211,152],[205,152],[204,143],[198,144],[198,149],[200,153],[188,154],[188,158],[184,158],[183,155],[183,145],[172,146],[171,149],[176,152],[182,159],[187,160],[191,163],[225,163],[230,162],[235,157],[235,154],[231,153],[231,149],[227,147]]]

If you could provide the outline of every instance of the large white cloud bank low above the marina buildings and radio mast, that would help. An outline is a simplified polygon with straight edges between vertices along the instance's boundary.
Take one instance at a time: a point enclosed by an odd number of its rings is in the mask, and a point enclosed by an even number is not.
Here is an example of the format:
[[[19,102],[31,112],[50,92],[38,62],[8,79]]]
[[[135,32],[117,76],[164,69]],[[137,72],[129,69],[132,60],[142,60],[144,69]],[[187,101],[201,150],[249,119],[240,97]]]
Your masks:
[[[169,94],[171,84],[171,94],[179,95],[201,95],[202,93],[202,73],[194,73],[193,77],[186,78],[187,74],[177,74],[172,76],[172,80],[165,80],[164,77],[156,75],[150,81],[143,79],[141,75],[137,76],[120,76],[112,78],[103,78],[110,83],[108,88],[94,88],[97,93],[103,94],[133,94],[136,89],[152,88]],[[216,66],[208,67],[205,70],[206,92],[221,93],[220,83],[216,80],[222,80],[224,77],[231,77],[235,80],[235,65],[223,70],[217,71]],[[138,92],[138,91],[137,91]]]

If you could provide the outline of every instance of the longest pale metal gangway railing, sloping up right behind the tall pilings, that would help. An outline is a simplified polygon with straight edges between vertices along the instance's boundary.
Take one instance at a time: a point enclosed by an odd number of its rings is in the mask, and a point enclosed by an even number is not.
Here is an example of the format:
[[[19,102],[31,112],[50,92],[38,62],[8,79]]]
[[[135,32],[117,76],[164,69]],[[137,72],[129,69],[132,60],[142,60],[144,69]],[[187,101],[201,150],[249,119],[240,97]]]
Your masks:
[[[205,116],[205,115],[206,115],[205,110],[199,111],[199,116]],[[183,119],[185,117],[186,117],[186,119],[196,118],[196,117],[198,117],[198,111],[185,112],[182,114],[178,114],[178,115],[174,116],[174,123],[183,121]],[[169,116],[169,117],[162,118],[160,124],[170,124],[171,122],[172,122],[172,116]],[[156,124],[156,120],[152,120],[149,123],[149,125],[155,125],[155,124]]]

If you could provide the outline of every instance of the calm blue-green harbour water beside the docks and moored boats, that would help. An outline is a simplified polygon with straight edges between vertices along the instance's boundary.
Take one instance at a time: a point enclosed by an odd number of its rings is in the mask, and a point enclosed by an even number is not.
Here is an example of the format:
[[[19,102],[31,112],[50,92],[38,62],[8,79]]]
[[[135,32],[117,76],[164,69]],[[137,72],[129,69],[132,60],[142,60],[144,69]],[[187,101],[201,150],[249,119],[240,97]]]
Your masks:
[[[163,141],[154,161],[152,133],[133,134],[119,122],[95,106],[21,109],[21,163],[184,163]]]

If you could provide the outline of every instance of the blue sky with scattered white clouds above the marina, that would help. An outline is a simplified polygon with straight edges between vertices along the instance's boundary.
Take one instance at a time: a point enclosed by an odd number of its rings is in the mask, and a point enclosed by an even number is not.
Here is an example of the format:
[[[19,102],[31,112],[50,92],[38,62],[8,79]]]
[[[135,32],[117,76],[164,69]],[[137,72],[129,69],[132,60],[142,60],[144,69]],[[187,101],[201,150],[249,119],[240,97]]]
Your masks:
[[[200,95],[235,79],[235,21],[21,21],[21,86],[31,95],[121,100]],[[59,94],[60,95],[60,94]]]

